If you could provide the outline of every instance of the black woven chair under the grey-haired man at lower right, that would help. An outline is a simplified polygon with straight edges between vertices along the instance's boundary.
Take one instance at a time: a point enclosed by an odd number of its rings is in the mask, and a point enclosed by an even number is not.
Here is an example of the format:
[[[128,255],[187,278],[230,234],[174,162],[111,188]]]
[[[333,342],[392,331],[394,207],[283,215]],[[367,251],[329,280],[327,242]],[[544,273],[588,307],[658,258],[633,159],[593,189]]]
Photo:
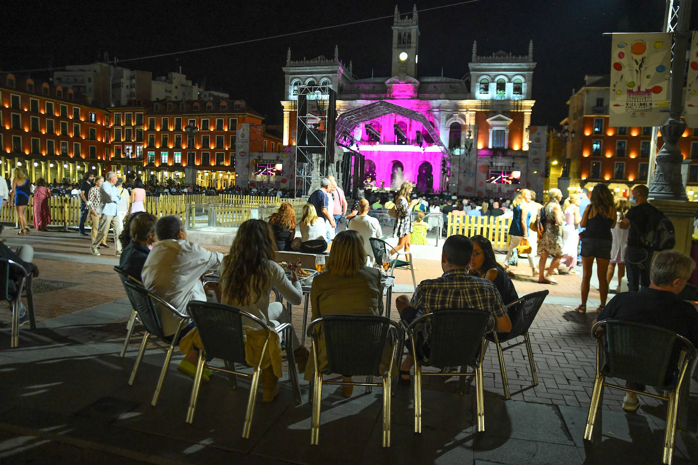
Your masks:
[[[596,338],[596,379],[586,420],[584,439],[591,441],[594,422],[603,388],[621,389],[669,402],[667,427],[664,431],[664,464],[671,464],[676,437],[678,399],[688,367],[695,357],[695,347],[685,337],[658,326],[607,319],[591,328]],[[668,391],[666,397],[607,383],[606,378],[620,378],[633,383]]]

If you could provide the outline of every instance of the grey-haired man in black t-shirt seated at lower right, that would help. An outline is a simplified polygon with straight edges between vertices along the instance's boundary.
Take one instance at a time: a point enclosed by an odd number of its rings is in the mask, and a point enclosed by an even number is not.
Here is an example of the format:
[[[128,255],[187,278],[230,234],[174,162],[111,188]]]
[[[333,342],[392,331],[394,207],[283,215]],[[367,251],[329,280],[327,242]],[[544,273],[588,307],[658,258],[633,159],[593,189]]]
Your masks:
[[[660,326],[682,335],[698,347],[698,313],[693,305],[677,297],[694,268],[693,259],[681,252],[659,252],[652,262],[650,286],[642,287],[639,292],[618,294],[606,304],[596,320],[618,319]],[[645,390],[644,385],[637,383],[626,382],[625,386]],[[637,394],[625,393],[624,410],[634,412],[639,405]]]

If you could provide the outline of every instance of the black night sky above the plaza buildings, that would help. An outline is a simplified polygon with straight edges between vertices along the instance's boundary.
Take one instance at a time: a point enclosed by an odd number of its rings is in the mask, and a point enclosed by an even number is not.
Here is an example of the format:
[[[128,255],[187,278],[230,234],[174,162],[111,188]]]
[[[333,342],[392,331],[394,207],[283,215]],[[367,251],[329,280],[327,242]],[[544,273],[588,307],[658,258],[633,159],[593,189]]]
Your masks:
[[[124,61],[126,68],[158,75],[182,67],[207,89],[228,91],[267,118],[281,122],[286,50],[292,58],[339,56],[354,64],[359,77],[388,77],[394,1],[231,1],[48,3],[70,8],[47,10],[46,2],[13,3],[3,21],[0,69],[22,71],[91,63],[104,52],[119,60],[209,47],[282,33],[306,31],[359,20],[390,16],[352,26],[260,40],[243,45],[156,59]],[[401,13],[413,1],[398,1]],[[456,0],[417,2],[417,9]],[[195,8],[193,8],[195,6]],[[692,29],[698,15],[693,8]],[[478,54],[498,49],[527,54],[533,39],[532,123],[558,124],[567,115],[565,102],[584,75],[609,73],[611,38],[604,32],[660,31],[662,0],[480,0],[419,13],[419,75],[462,78],[468,73],[473,40]],[[29,74],[47,79],[50,73]]]

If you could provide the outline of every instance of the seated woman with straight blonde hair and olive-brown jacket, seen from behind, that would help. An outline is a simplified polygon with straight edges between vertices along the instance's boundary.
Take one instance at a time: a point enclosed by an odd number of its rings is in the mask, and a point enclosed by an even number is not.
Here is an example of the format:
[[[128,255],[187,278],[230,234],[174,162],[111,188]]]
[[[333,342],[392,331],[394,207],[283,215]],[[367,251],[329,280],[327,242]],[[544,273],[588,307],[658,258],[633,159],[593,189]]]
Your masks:
[[[332,314],[383,313],[380,271],[366,266],[364,241],[357,231],[342,231],[335,236],[325,272],[313,280],[310,300],[313,320]],[[320,339],[318,363],[321,370],[327,365],[326,357],[325,340]],[[311,357],[305,369],[305,379],[313,379],[314,372]],[[351,377],[345,377],[344,381],[350,382]],[[354,386],[343,386],[344,397],[350,397],[352,390]]]

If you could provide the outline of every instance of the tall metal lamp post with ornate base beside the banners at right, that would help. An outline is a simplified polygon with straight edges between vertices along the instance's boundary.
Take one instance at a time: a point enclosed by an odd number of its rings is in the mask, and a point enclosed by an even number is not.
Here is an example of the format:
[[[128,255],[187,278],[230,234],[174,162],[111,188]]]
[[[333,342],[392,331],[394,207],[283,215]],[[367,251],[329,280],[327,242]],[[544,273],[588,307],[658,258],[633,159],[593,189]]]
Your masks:
[[[657,167],[649,190],[651,199],[688,201],[681,179],[681,162],[683,155],[678,149],[678,139],[685,131],[686,124],[681,121],[683,110],[683,79],[685,77],[686,52],[688,51],[688,22],[690,20],[692,0],[667,0],[669,4],[667,22],[671,23],[676,12],[674,29],[674,49],[671,57],[671,82],[669,86],[669,121],[662,126],[664,146],[657,154]],[[676,6],[678,3],[678,7]]]

